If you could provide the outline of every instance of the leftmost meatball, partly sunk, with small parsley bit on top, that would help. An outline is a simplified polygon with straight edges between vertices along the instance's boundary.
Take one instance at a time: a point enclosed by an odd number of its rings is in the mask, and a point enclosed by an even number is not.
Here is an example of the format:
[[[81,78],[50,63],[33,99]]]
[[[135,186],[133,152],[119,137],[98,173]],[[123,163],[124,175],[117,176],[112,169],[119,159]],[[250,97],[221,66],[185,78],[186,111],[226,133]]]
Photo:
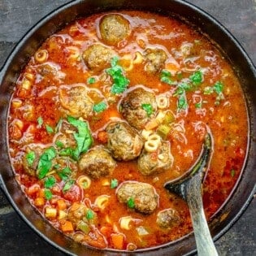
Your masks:
[[[37,166],[43,152],[44,149],[40,145],[36,144],[28,145],[26,148],[26,153],[24,154],[22,163],[25,173],[27,173],[29,176],[37,175]]]

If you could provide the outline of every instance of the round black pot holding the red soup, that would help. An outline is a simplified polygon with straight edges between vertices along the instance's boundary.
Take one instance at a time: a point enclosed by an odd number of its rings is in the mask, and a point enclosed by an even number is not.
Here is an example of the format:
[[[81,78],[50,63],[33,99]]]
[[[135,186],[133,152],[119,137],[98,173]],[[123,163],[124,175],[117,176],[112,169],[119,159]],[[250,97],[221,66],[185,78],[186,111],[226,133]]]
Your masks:
[[[256,176],[256,71],[245,51],[228,31],[216,22],[210,15],[207,15],[197,7],[183,1],[148,1],[148,0],[85,0],[74,1],[60,7],[47,15],[35,25],[15,47],[7,59],[0,72],[0,184],[7,194],[12,206],[21,215],[28,225],[39,233],[51,245],[61,249],[67,254],[81,255],[119,255],[113,250],[98,250],[85,245],[80,245],[48,223],[30,205],[17,184],[12,171],[10,156],[8,153],[7,138],[7,115],[11,94],[15,86],[15,80],[20,71],[28,62],[41,43],[51,34],[63,28],[72,20],[95,12],[111,11],[116,9],[139,9],[162,13],[163,15],[174,15],[184,22],[193,24],[195,28],[205,33],[211,41],[222,51],[234,67],[236,75],[239,77],[242,89],[245,93],[247,111],[249,115],[249,150],[245,170],[242,172],[240,181],[233,190],[232,196],[214,218],[210,221],[210,231],[214,239],[218,239],[231,227],[232,223],[238,219],[241,213],[248,206],[250,199],[254,195]],[[220,47],[221,46],[221,47]],[[138,250],[134,255],[184,255],[192,253],[196,249],[193,233],[184,236],[179,241],[174,241],[168,245],[163,245],[151,249]],[[125,254],[125,253],[124,253]]]

